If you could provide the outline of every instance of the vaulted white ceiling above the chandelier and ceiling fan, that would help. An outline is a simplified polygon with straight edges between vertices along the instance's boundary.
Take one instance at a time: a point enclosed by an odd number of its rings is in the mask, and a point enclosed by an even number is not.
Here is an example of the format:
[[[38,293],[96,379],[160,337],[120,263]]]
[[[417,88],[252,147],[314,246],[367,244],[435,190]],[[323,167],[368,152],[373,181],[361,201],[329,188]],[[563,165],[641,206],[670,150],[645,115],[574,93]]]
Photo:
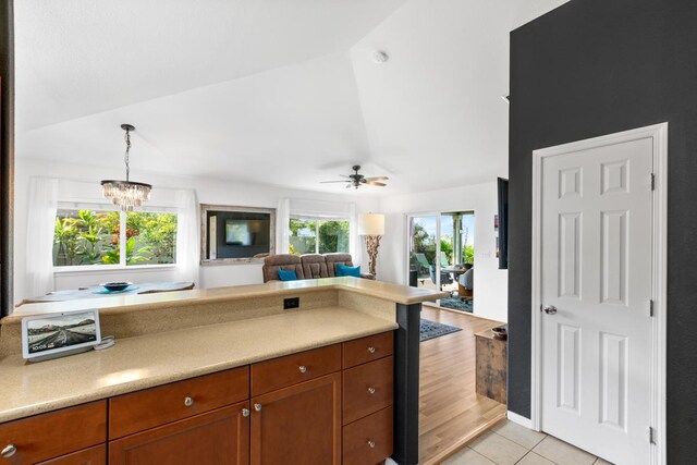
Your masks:
[[[17,155],[390,194],[506,172],[509,30],[565,0],[22,0]],[[375,50],[388,62],[372,61]],[[146,180],[147,181],[147,180]]]

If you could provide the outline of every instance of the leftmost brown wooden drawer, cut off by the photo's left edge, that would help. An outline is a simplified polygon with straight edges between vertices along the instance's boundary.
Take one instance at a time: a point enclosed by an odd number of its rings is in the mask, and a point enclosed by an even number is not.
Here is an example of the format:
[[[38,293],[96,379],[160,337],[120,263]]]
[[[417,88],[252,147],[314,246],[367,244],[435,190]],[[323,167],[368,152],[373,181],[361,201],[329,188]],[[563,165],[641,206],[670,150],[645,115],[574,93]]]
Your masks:
[[[16,452],[0,463],[27,464],[65,455],[107,440],[107,401],[0,425],[0,449]]]

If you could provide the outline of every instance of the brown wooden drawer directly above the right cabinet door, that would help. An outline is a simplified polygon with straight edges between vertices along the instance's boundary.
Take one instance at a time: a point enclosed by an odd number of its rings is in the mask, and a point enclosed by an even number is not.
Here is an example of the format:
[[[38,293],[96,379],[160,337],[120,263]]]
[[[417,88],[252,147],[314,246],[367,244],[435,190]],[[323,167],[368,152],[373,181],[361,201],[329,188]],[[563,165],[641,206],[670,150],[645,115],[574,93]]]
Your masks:
[[[341,370],[341,344],[252,365],[252,395],[297,384]]]

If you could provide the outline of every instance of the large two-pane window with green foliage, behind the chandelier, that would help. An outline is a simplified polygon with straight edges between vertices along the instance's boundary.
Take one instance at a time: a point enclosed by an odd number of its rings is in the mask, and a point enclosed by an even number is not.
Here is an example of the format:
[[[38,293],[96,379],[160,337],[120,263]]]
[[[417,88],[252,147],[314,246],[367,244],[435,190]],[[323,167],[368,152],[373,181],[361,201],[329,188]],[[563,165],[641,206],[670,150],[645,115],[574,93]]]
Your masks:
[[[175,213],[58,209],[53,229],[56,267],[175,262]]]

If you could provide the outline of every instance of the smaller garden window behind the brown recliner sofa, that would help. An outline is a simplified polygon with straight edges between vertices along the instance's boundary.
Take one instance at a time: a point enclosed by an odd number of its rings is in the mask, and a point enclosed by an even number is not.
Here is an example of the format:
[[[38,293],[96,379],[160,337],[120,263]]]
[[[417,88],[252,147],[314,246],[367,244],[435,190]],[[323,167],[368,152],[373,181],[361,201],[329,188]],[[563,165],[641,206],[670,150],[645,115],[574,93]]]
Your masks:
[[[289,227],[293,255],[348,252],[348,220],[291,218]]]

